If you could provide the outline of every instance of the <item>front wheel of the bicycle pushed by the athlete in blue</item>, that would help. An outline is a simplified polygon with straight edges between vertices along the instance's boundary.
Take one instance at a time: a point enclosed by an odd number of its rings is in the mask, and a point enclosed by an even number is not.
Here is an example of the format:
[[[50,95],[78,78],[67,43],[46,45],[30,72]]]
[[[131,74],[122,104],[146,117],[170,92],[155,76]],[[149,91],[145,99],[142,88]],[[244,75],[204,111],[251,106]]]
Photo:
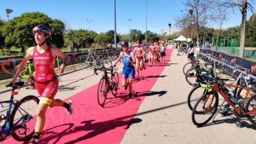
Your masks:
[[[98,83],[98,92],[97,92],[97,98],[98,98],[98,104],[103,107],[106,97],[108,95],[108,87],[106,83],[105,77],[102,77],[100,79],[100,82]]]

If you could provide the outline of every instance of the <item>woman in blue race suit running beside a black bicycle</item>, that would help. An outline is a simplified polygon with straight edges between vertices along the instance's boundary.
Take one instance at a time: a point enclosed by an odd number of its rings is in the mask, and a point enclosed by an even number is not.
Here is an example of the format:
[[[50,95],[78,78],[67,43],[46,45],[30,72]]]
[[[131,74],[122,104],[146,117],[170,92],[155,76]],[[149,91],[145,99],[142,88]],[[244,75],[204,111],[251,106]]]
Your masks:
[[[133,91],[133,79],[135,77],[135,56],[133,52],[130,52],[128,50],[128,43],[127,41],[122,41],[121,46],[123,48],[123,52],[120,52],[116,62],[113,64],[113,67],[116,67],[116,63],[120,62],[122,60],[123,62],[123,72],[122,72],[122,79],[121,84],[125,87],[125,90],[127,90],[127,87],[129,87],[129,98],[132,98],[132,91]],[[128,79],[128,82],[127,82]]]

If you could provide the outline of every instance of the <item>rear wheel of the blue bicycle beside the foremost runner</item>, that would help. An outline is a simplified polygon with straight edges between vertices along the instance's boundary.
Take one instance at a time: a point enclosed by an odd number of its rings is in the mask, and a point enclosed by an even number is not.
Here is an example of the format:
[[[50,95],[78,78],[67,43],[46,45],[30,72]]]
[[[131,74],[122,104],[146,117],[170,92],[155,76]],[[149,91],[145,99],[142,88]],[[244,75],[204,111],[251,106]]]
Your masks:
[[[13,128],[12,137],[16,141],[26,141],[33,136],[36,109],[39,99],[35,96],[22,98],[12,110],[10,128]]]

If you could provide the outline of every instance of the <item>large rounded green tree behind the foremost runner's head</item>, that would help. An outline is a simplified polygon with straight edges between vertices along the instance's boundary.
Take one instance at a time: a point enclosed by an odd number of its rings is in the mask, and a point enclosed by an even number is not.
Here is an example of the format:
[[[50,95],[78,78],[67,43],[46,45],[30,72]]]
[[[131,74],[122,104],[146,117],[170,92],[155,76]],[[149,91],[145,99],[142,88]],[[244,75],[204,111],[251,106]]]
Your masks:
[[[26,47],[35,44],[32,29],[38,24],[49,24],[53,33],[53,44],[58,47],[63,46],[64,40],[61,33],[63,33],[64,24],[59,20],[52,20],[41,12],[26,12],[6,22],[2,28],[5,46],[21,47],[24,52]]]

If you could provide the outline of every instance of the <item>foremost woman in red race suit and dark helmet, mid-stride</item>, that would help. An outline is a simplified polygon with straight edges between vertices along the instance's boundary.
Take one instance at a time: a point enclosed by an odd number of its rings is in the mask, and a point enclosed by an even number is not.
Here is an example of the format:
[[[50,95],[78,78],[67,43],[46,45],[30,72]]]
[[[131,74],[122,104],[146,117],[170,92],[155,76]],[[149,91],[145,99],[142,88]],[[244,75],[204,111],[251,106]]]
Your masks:
[[[54,59],[56,56],[62,58],[63,63],[59,67],[59,73],[64,73],[66,63],[69,62],[68,56],[62,53],[58,48],[51,47],[47,39],[51,37],[51,29],[43,24],[33,28],[33,35],[35,38],[36,46],[30,47],[24,56],[17,69],[16,75],[11,81],[11,84],[16,82],[18,75],[26,65],[30,58],[33,58],[35,65],[35,88],[41,96],[37,107],[37,120],[35,122],[35,134],[30,143],[39,143],[39,137],[45,126],[45,113],[48,107],[65,107],[68,115],[72,115],[72,101],[68,103],[54,99],[58,91],[58,80],[54,73]]]

